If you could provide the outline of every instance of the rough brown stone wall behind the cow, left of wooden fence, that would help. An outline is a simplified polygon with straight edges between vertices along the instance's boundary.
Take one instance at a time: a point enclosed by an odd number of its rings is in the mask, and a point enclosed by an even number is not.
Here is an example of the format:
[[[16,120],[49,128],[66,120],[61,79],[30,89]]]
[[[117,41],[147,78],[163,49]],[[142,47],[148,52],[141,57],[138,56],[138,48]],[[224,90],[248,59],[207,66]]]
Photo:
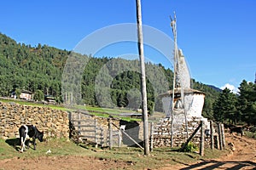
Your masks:
[[[0,102],[0,139],[18,138],[23,124],[35,125],[44,138],[68,138],[68,122],[66,111]]]

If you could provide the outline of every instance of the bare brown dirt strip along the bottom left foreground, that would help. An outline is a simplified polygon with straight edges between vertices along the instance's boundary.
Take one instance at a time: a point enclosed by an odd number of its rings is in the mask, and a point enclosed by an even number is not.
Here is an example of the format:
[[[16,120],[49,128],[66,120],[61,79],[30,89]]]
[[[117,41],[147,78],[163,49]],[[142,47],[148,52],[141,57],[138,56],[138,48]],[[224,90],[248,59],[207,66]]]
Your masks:
[[[12,158],[0,161],[0,170],[55,170],[55,169],[115,169],[129,166],[124,161],[108,161],[85,156],[44,156],[39,158],[20,159]]]

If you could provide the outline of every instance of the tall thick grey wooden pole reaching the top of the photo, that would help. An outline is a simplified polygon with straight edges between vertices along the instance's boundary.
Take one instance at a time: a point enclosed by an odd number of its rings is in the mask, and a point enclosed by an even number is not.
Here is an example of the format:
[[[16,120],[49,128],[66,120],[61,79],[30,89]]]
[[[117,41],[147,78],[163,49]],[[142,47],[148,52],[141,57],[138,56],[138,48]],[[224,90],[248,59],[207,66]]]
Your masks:
[[[137,0],[137,39],[138,51],[141,63],[142,73],[142,93],[143,93],[143,133],[144,133],[144,155],[149,154],[149,137],[148,137],[148,106],[147,106],[147,90],[146,90],[146,73],[144,63],[143,49],[143,24],[142,24],[142,8],[141,0]]]

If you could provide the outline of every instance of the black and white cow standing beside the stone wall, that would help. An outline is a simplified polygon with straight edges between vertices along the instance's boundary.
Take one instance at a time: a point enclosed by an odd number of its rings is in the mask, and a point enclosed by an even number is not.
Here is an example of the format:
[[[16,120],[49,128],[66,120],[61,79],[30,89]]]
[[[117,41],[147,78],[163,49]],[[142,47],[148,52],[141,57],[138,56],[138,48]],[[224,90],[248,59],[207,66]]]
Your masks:
[[[38,139],[40,142],[43,142],[44,132],[40,132],[37,127],[34,125],[22,125],[19,129],[20,133],[20,145],[21,150],[20,152],[23,152],[23,150],[26,150],[26,140],[28,139],[28,148],[29,148],[29,142],[30,138],[33,139],[34,144],[34,150],[36,150],[36,139]]]

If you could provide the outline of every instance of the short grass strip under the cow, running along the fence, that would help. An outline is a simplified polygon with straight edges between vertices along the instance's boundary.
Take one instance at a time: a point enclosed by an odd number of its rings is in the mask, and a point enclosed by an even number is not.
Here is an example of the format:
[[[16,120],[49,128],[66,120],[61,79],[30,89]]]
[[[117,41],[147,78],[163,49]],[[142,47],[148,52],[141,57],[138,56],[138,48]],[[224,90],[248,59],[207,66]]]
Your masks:
[[[11,142],[10,142],[11,141]],[[150,156],[143,156],[143,150],[133,147],[113,148],[94,148],[88,145],[74,144],[67,139],[47,139],[37,145],[37,150],[26,150],[20,153],[20,145],[16,145],[17,139],[9,141],[0,139],[0,160],[19,157],[34,158],[40,156],[88,156],[108,161],[126,161],[132,163],[132,169],[164,167],[166,164],[193,163],[200,159],[215,158],[224,154],[220,150],[206,150],[206,156],[201,157],[196,153],[183,153],[171,150],[170,148],[154,149]],[[51,150],[50,154],[46,154]]]

